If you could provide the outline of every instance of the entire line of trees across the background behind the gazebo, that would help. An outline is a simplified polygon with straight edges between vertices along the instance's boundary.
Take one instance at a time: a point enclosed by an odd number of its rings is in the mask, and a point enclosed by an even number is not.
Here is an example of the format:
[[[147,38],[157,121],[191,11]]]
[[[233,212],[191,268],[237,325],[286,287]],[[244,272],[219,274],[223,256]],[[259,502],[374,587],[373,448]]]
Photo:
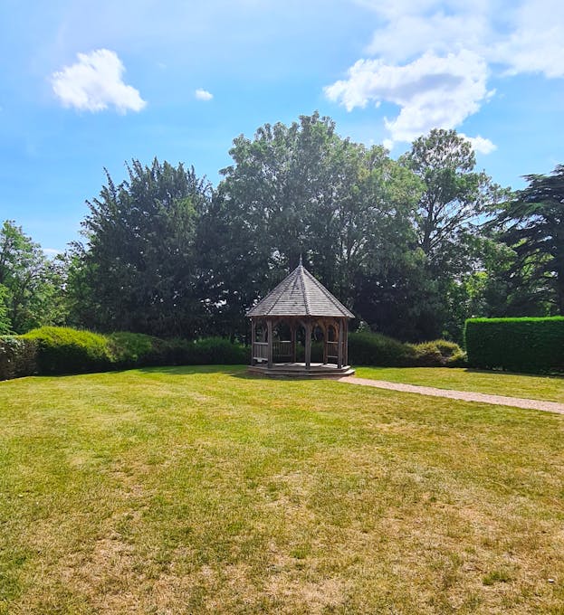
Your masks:
[[[41,325],[244,341],[244,313],[302,257],[357,316],[411,342],[460,342],[467,317],[564,314],[564,166],[511,193],[454,130],[398,160],[316,113],[240,136],[216,187],[133,160],[48,260],[0,232],[0,333]],[[364,325],[363,325],[364,326]]]

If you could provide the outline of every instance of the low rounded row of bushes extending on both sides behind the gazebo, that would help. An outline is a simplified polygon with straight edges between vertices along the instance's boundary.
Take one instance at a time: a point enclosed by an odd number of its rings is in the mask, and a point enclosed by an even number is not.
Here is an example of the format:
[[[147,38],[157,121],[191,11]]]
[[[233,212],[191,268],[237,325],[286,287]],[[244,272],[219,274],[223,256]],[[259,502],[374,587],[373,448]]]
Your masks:
[[[318,356],[319,355],[319,356]],[[312,360],[322,345],[312,344]],[[83,374],[158,365],[246,364],[249,348],[222,337],[164,340],[140,333],[109,336],[61,326],[43,326],[24,336],[0,338],[0,380],[31,374]],[[391,367],[464,364],[460,347],[445,340],[403,344],[375,333],[349,336],[351,364]]]

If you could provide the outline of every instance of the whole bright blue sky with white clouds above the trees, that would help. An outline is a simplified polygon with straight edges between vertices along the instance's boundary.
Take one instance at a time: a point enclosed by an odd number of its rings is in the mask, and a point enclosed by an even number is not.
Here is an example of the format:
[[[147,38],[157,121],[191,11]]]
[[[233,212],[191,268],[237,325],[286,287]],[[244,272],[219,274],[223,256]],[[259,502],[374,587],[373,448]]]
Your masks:
[[[319,110],[392,157],[432,128],[503,186],[564,164],[561,0],[0,0],[0,222],[48,254],[131,159],[214,184]]]

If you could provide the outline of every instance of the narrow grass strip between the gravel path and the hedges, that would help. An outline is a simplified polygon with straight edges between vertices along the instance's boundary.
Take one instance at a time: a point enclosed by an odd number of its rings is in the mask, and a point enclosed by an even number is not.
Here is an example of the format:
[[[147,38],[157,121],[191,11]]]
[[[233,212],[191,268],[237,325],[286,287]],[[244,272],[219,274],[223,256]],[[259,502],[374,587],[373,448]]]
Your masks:
[[[564,402],[564,376],[483,372],[458,367],[358,367],[359,378]]]

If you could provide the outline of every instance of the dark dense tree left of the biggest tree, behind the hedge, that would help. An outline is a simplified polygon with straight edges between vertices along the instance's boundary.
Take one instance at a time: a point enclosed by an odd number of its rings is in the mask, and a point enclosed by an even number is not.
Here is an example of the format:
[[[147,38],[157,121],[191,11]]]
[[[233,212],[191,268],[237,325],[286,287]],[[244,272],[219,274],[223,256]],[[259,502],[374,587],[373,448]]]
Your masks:
[[[133,160],[128,180],[107,174],[88,202],[84,244],[70,256],[72,317],[100,330],[195,336],[203,326],[197,293],[196,227],[210,188],[193,168]]]

